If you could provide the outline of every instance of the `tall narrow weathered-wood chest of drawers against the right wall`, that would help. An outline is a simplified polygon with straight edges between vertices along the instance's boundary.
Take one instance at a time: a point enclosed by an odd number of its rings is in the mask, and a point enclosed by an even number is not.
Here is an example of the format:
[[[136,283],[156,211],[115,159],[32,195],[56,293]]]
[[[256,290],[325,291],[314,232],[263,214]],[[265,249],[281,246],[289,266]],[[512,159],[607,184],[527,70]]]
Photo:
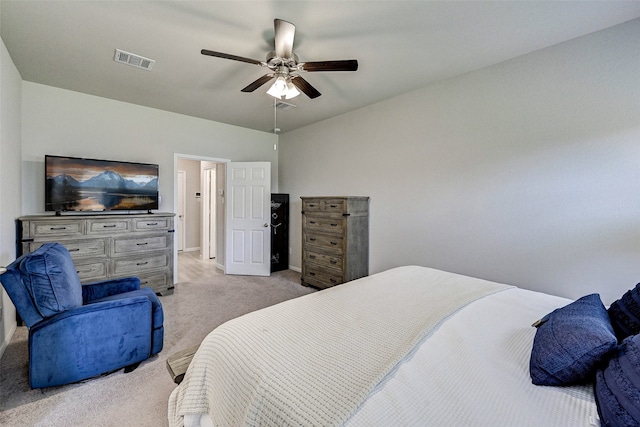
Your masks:
[[[302,284],[328,288],[369,274],[369,198],[301,197]]]

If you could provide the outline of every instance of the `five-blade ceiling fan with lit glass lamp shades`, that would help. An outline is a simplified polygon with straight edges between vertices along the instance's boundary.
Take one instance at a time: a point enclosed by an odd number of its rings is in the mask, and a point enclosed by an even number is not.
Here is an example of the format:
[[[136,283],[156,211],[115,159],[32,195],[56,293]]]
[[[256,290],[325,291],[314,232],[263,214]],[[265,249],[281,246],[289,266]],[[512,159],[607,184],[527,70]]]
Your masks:
[[[358,61],[355,59],[299,62],[298,55],[293,53],[293,39],[296,32],[295,25],[290,22],[283,21],[282,19],[274,19],[273,24],[275,27],[275,50],[267,54],[266,61],[264,62],[207,49],[202,49],[200,53],[203,55],[231,59],[268,68],[270,70],[269,73],[247,85],[242,89],[242,92],[253,92],[260,86],[275,78],[275,83],[267,93],[276,98],[283,99],[290,99],[299,95],[300,92],[298,92],[297,89],[300,89],[300,91],[311,99],[317,98],[321,95],[316,88],[311,86],[309,82],[302,78],[300,75],[301,73],[318,71],[356,71],[358,69]]]

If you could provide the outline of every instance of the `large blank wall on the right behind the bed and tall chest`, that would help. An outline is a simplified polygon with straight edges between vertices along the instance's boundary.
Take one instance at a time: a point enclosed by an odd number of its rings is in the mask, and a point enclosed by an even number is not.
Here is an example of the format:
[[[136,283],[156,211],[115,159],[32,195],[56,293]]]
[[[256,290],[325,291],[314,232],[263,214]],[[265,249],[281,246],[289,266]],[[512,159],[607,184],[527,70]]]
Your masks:
[[[280,137],[291,195],[371,197],[370,272],[420,264],[605,303],[640,281],[640,20]]]

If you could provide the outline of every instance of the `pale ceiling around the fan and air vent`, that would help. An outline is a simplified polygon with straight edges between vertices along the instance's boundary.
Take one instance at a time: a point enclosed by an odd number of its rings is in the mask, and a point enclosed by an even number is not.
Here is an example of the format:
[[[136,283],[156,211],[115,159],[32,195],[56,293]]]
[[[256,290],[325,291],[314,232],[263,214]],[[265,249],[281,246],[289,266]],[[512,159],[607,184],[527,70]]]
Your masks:
[[[322,96],[278,111],[286,132],[638,17],[639,1],[1,0],[0,35],[23,80],[270,132],[269,84],[240,92],[266,69],[200,50],[263,61],[290,21],[301,61],[359,69],[305,74]]]

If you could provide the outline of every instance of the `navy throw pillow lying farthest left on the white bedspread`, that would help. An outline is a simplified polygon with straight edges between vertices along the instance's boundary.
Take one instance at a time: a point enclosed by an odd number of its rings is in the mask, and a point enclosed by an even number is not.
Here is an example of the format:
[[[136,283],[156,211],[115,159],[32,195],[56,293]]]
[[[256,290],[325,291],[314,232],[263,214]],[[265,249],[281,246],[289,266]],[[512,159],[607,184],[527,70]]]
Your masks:
[[[529,372],[537,385],[592,381],[598,365],[618,343],[599,294],[554,310],[535,325]]]

